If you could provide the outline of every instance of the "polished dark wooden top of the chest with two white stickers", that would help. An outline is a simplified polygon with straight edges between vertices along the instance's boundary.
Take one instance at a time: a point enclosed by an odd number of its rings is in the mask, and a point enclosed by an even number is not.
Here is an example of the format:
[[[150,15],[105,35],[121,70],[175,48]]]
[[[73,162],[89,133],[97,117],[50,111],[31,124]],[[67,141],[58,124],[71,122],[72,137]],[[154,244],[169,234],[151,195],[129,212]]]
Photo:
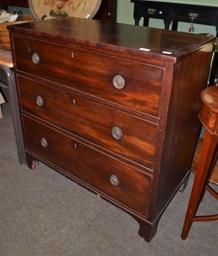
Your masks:
[[[8,28],[20,35],[46,36],[173,63],[215,40],[213,36],[73,17],[39,20]]]

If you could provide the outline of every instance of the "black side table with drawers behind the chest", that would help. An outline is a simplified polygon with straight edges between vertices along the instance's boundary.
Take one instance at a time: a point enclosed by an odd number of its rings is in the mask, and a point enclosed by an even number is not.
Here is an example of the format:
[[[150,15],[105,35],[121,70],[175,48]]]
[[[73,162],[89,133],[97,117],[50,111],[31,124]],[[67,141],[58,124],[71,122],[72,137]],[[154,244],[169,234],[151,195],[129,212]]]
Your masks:
[[[191,22],[215,26],[218,36],[218,7],[201,6],[194,4],[183,3],[167,3],[146,1],[146,0],[131,0],[134,3],[134,20],[135,24],[139,24],[141,17],[144,17],[143,26],[148,26],[149,19],[164,20],[164,28],[169,29],[171,22],[172,30],[177,30],[178,22]]]

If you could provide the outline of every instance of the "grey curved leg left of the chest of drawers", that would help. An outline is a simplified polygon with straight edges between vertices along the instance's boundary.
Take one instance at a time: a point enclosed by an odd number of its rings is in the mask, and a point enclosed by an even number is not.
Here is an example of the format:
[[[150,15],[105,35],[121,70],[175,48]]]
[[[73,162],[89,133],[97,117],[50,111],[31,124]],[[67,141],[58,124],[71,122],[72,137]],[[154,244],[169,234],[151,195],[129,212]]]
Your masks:
[[[26,154],[24,151],[24,140],[22,134],[22,127],[20,123],[20,112],[19,112],[19,104],[17,100],[17,90],[14,82],[14,76],[10,68],[0,65],[0,68],[6,74],[6,78],[8,81],[8,91],[10,97],[10,105],[12,109],[12,120],[13,120],[13,128],[15,131],[15,140],[17,144],[17,153],[19,157],[20,164],[26,164]]]

